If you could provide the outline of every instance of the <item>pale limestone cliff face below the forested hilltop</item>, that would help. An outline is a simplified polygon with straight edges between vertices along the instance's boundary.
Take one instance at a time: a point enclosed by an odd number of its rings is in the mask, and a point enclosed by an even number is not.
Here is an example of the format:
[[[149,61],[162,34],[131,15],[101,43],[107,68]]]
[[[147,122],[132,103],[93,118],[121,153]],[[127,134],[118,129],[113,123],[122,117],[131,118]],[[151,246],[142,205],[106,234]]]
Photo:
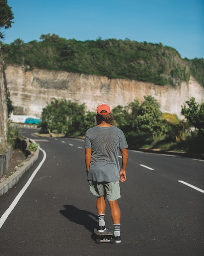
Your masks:
[[[42,108],[52,98],[65,98],[79,104],[86,104],[86,111],[96,111],[99,104],[106,103],[111,108],[127,106],[144,96],[151,95],[160,103],[162,112],[170,112],[181,117],[181,106],[191,97],[197,103],[204,99],[204,88],[190,78],[179,87],[160,86],[153,83],[127,79],[108,79],[105,76],[85,75],[64,71],[35,69],[26,71],[23,67],[8,65],[7,86],[14,106],[22,109],[24,115],[40,115]]]

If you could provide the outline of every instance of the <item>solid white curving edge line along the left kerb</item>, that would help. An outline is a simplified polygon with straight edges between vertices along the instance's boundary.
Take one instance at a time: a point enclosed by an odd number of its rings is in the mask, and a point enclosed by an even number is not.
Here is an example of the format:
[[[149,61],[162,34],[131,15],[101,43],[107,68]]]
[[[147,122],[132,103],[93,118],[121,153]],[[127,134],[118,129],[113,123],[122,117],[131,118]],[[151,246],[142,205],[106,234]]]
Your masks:
[[[33,143],[35,143],[35,141],[31,140]],[[29,185],[31,184],[33,178],[35,177],[35,175],[37,174],[37,172],[39,171],[39,169],[41,168],[42,164],[45,162],[46,159],[46,152],[39,147],[39,149],[43,152],[43,159],[42,161],[39,163],[39,165],[37,166],[37,168],[35,169],[35,171],[32,173],[31,177],[29,178],[29,180],[26,182],[26,184],[24,185],[24,187],[21,189],[21,191],[18,193],[18,195],[15,197],[15,199],[13,200],[13,202],[11,203],[11,205],[9,206],[9,208],[4,212],[4,214],[1,216],[0,218],[0,228],[2,227],[2,225],[4,224],[4,222],[7,220],[7,218],[9,217],[9,214],[11,213],[11,211],[13,211],[13,209],[15,208],[16,204],[18,204],[18,201],[20,200],[20,198],[22,197],[22,195],[24,194],[24,192],[26,191],[26,189],[29,187]]]

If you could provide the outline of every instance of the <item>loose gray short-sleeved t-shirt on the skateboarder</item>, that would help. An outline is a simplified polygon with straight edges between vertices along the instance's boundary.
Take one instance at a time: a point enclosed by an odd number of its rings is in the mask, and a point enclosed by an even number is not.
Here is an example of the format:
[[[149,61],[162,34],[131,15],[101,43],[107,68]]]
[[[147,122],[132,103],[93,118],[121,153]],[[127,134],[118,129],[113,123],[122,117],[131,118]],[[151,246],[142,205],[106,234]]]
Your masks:
[[[84,146],[92,148],[87,179],[97,182],[118,181],[118,149],[128,148],[123,131],[115,126],[94,126],[86,131]]]

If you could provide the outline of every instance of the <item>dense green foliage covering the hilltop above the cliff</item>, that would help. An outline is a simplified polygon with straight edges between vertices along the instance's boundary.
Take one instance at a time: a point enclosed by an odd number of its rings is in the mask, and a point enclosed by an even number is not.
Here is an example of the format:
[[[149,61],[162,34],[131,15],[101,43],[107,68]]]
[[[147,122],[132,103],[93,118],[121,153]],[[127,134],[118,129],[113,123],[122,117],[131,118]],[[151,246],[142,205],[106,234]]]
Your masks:
[[[158,85],[180,85],[190,74],[202,85],[203,59],[182,59],[173,48],[161,43],[138,43],[129,39],[65,39],[53,34],[24,43],[20,38],[2,45],[6,63],[30,69],[63,70],[108,78],[147,81]]]

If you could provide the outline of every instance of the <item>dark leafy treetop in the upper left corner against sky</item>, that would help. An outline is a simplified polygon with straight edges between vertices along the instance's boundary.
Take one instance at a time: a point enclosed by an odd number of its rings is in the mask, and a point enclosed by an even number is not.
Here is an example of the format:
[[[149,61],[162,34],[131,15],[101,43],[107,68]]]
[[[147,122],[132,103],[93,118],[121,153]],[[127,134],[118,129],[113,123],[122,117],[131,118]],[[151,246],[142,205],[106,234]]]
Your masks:
[[[11,7],[7,4],[7,0],[0,0],[0,29],[8,29],[13,23],[13,13]],[[2,31],[0,31],[0,38],[4,38]]]

